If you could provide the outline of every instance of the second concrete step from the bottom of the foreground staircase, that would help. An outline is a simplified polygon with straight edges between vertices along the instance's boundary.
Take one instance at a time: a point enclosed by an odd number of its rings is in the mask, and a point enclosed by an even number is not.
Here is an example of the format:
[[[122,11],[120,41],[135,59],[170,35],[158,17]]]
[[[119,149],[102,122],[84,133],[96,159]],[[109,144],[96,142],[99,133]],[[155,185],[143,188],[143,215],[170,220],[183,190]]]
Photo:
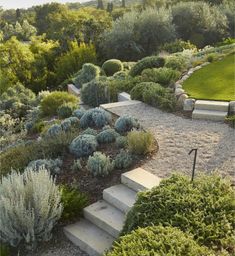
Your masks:
[[[104,200],[100,200],[83,210],[84,217],[117,238],[122,230],[125,214]]]

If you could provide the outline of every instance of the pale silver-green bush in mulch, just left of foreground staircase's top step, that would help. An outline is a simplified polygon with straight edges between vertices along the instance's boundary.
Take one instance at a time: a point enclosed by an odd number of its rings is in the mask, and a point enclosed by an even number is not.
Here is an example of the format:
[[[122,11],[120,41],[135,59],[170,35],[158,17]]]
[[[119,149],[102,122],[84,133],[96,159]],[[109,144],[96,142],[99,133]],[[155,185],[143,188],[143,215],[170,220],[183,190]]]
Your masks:
[[[89,156],[87,161],[87,169],[94,176],[107,176],[114,168],[110,158],[101,152],[95,152],[93,156]]]

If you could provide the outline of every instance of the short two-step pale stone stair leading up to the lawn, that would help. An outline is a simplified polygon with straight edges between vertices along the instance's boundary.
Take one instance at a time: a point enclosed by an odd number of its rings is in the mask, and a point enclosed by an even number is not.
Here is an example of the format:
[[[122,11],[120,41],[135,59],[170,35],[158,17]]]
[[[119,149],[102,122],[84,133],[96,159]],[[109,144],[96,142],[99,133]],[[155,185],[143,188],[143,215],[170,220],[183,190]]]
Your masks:
[[[229,102],[197,100],[192,113],[193,119],[224,121],[228,114]]]

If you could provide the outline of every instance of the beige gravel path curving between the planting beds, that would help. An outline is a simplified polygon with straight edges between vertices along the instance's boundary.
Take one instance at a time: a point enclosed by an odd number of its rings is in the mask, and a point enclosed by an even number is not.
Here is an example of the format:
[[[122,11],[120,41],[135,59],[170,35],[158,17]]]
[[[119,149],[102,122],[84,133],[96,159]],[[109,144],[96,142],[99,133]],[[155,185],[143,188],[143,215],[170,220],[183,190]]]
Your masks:
[[[235,181],[235,130],[228,125],[182,118],[144,103],[111,111],[117,115],[129,114],[153,132],[159,152],[143,165],[145,170],[160,177],[173,171],[191,173],[193,155],[188,152],[198,148],[196,171],[217,169]]]

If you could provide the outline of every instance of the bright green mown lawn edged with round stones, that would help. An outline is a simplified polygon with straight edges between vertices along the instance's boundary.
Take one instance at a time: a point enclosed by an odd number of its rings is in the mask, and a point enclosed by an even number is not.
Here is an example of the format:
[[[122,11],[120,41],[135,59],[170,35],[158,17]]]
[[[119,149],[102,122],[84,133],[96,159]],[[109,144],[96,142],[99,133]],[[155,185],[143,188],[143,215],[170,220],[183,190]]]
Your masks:
[[[235,54],[195,71],[183,88],[195,99],[235,100]]]

